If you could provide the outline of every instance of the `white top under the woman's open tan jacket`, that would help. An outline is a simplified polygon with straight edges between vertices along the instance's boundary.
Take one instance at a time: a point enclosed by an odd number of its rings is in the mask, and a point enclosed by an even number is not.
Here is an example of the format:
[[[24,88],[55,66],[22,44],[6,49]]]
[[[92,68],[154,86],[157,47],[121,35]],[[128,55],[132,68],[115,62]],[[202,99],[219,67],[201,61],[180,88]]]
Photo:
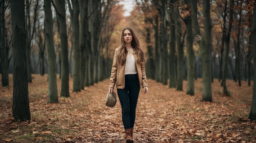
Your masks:
[[[131,54],[130,57],[126,58],[126,64],[124,69],[124,74],[137,74],[136,64],[135,64],[135,58],[133,54]]]

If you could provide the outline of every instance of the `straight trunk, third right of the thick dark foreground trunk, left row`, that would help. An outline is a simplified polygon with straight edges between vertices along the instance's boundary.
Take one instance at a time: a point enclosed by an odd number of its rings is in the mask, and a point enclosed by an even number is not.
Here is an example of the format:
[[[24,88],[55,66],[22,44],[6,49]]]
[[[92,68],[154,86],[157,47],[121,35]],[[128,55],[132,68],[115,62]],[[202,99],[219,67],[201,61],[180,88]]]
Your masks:
[[[79,1],[72,0],[73,10],[71,12],[72,20],[72,38],[73,38],[73,92],[81,91],[81,50],[79,46]],[[71,6],[70,6],[71,7]],[[71,8],[70,8],[71,9]]]

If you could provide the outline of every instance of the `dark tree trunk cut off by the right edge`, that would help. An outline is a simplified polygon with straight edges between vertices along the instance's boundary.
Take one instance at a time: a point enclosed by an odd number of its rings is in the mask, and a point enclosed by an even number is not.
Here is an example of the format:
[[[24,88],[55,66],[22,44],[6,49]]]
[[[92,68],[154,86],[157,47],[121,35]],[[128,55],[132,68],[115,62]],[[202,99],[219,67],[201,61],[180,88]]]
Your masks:
[[[256,2],[254,2],[253,18],[252,18],[252,28],[251,28],[251,38],[252,38],[252,49],[253,49],[253,59],[254,59],[254,69],[256,69]],[[256,75],[256,70],[254,70],[254,75]],[[256,83],[256,76],[254,76],[254,83]],[[251,110],[248,117],[251,121],[256,120],[256,84],[253,86],[252,94],[252,104]]]

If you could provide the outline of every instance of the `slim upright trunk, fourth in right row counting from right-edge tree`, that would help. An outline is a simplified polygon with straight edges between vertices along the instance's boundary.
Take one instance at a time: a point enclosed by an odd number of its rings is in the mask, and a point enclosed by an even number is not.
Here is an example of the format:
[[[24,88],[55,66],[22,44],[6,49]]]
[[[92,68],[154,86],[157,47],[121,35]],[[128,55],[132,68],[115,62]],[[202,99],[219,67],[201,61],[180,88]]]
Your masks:
[[[184,66],[184,50],[182,45],[182,33],[181,33],[181,22],[178,9],[175,9],[175,20],[176,20],[176,42],[177,42],[177,91],[183,91],[183,66]]]

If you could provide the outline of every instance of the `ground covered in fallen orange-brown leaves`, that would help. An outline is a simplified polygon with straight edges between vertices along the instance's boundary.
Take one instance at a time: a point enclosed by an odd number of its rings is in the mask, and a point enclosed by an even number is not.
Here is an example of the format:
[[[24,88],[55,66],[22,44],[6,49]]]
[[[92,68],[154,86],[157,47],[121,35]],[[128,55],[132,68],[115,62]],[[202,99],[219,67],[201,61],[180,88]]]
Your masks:
[[[32,75],[29,83],[30,122],[12,121],[10,86],[0,87],[1,143],[124,143],[119,100],[105,106],[106,79],[85,90],[47,104],[47,75]],[[169,89],[148,79],[149,93],[142,90],[137,104],[134,143],[253,143],[256,124],[248,120],[253,86],[227,80],[231,97],[222,95],[220,82],[212,85],[213,102],[202,102],[202,79],[195,80],[195,95]],[[253,82],[252,82],[253,84]],[[58,79],[60,93],[61,80]],[[114,89],[116,91],[116,89]]]

